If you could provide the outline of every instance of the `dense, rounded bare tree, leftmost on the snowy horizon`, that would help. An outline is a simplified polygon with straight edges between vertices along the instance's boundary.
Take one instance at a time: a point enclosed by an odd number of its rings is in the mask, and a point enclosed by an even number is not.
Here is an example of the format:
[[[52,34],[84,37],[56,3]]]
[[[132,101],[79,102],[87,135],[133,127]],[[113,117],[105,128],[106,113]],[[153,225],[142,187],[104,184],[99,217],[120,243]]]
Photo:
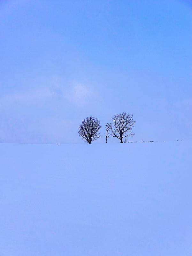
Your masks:
[[[100,128],[101,125],[98,119],[94,116],[89,116],[80,124],[78,133],[82,140],[85,140],[87,143],[91,144],[91,142],[100,137]]]

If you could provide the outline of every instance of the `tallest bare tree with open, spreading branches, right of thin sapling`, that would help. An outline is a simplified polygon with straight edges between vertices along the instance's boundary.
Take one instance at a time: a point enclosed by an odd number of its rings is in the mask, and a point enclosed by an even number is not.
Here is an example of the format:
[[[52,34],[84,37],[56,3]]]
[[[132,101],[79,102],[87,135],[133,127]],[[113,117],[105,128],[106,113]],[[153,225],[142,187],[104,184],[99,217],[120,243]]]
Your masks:
[[[123,138],[128,136],[134,136],[132,128],[134,127],[133,115],[126,113],[119,113],[112,117],[112,124],[110,124],[111,135],[120,140],[120,143],[123,143]]]

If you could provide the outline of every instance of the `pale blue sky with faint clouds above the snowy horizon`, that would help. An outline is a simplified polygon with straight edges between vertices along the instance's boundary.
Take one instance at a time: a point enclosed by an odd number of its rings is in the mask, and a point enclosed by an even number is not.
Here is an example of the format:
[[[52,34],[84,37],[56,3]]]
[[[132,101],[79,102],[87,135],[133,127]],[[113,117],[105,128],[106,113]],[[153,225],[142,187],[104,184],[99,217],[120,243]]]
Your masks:
[[[0,1],[0,142],[84,143],[87,116],[192,140],[190,1]],[[109,142],[118,142],[110,138]]]

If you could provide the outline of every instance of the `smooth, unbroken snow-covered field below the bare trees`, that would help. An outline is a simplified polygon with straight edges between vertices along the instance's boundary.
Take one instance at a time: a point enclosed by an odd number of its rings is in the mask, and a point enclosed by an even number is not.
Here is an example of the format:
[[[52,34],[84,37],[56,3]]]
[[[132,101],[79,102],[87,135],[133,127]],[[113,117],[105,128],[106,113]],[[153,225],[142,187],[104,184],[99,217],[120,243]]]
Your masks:
[[[192,141],[0,144],[1,256],[191,256]]]

